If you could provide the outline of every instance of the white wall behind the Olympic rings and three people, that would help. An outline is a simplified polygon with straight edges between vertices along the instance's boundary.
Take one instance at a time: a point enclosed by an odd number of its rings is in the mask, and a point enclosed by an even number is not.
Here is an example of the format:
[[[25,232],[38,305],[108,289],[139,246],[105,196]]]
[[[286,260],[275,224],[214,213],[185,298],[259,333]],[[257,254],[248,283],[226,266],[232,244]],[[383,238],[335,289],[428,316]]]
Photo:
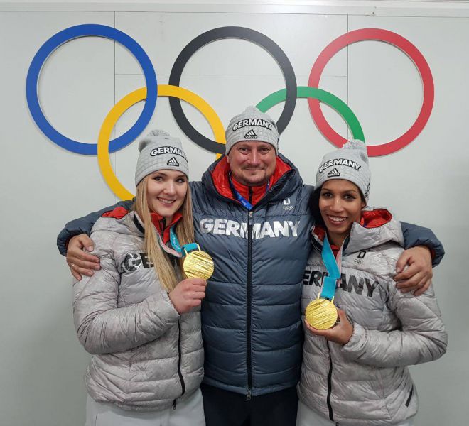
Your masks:
[[[65,151],[38,130],[25,95],[26,72],[38,48],[51,35],[79,23],[102,23],[131,35],[151,58],[159,83],[168,82],[174,60],[190,40],[220,26],[245,26],[272,38],[291,60],[298,85],[307,84],[311,66],[325,45],[347,31],[384,28],[419,48],[435,82],[433,112],[424,131],[409,146],[372,158],[370,202],[391,207],[401,219],[431,227],[445,245],[446,258],[434,271],[434,283],[450,337],[448,354],[431,364],[412,367],[411,372],[421,399],[417,425],[446,421],[465,425],[469,391],[469,370],[464,362],[469,349],[464,315],[469,294],[463,275],[464,239],[469,231],[467,4],[413,2],[409,7],[409,1],[385,1],[381,7],[378,1],[334,1],[315,6],[321,2],[310,1],[295,2],[307,6],[263,9],[254,4],[234,10],[226,2],[216,3],[153,3],[138,10],[133,4],[112,2],[105,7],[85,2],[55,7],[50,2],[0,4],[4,200],[0,425],[75,426],[84,422],[82,374],[88,356],[75,337],[71,278],[55,249],[55,236],[69,219],[113,204],[116,197],[100,175],[95,157]],[[453,7],[448,8],[449,4]],[[81,38],[50,56],[41,73],[39,93],[43,110],[56,129],[90,143],[114,103],[143,85],[138,64],[124,48],[117,45],[114,49],[112,41],[102,38]],[[270,55],[242,40],[205,46],[190,60],[181,79],[181,86],[209,102],[225,124],[248,104],[257,104],[283,85]],[[355,111],[370,145],[404,133],[416,118],[422,98],[420,77],[411,61],[391,45],[372,41],[335,55],[320,88],[333,92]],[[141,108],[139,104],[124,115],[117,124],[118,135],[134,124]],[[184,109],[191,123],[211,137],[200,114],[192,107]],[[340,117],[324,110],[334,128],[347,136]],[[278,118],[281,106],[270,113]],[[191,159],[192,179],[200,178],[215,159],[185,138],[166,98],[158,99],[147,129],[154,127],[182,138]],[[293,119],[281,136],[281,151],[296,163],[303,179],[313,183],[320,157],[332,148],[313,124],[306,100],[298,99]],[[111,155],[119,180],[129,190],[133,189],[136,156],[135,143]]]

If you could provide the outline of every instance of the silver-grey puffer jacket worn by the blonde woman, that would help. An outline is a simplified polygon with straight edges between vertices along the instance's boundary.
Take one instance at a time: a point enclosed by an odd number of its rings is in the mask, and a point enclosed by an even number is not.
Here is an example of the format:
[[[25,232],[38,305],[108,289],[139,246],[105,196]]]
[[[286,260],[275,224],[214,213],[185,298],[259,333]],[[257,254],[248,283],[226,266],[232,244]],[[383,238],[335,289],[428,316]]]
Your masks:
[[[95,354],[87,391],[124,410],[164,410],[202,381],[200,309],[178,314],[143,253],[136,213],[115,216],[93,226],[101,269],[73,285],[77,336]]]

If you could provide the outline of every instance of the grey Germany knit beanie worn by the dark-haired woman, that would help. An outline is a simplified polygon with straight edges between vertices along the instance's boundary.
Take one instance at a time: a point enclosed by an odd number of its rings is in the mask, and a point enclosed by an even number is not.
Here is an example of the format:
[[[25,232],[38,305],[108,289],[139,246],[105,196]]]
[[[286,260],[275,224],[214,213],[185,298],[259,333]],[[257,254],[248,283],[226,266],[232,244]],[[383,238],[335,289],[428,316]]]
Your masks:
[[[354,139],[345,143],[342,148],[324,155],[316,173],[316,187],[330,179],[345,179],[355,183],[368,202],[371,173],[364,142]]]

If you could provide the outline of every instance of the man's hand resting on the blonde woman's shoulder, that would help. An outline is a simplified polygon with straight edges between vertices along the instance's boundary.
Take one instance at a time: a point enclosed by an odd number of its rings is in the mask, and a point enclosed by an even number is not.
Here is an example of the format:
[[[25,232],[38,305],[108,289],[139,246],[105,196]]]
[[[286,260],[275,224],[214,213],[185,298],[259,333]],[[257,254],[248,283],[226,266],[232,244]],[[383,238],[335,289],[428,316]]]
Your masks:
[[[87,234],[73,236],[68,241],[67,246],[67,263],[72,275],[75,279],[81,280],[82,275],[92,276],[93,271],[101,268],[99,266],[99,258],[92,254],[86,253],[93,250],[93,241]]]

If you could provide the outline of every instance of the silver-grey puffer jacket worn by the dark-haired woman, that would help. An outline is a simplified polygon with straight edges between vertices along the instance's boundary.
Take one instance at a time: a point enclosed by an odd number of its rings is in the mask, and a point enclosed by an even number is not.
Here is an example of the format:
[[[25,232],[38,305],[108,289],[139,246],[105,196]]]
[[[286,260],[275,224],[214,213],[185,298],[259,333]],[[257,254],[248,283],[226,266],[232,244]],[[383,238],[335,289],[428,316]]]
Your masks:
[[[343,346],[305,329],[298,395],[337,425],[392,425],[418,408],[406,366],[442,356],[447,335],[433,288],[415,297],[401,293],[392,279],[403,251],[399,222],[386,209],[367,208],[363,217],[369,227],[352,225],[334,300],[353,324],[352,337]],[[313,229],[315,249],[303,276],[303,318],[326,272],[323,235]]]

